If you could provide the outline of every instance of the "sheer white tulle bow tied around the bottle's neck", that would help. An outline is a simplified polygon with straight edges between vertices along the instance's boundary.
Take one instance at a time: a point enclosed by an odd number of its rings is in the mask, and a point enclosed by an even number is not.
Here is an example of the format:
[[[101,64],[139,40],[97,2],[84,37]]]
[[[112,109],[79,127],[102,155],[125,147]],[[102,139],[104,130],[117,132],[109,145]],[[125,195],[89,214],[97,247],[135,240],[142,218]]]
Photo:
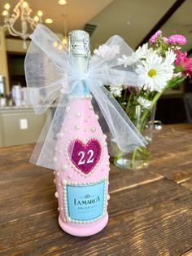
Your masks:
[[[52,121],[49,119],[41,131],[31,157],[33,163],[55,169],[53,157],[57,134],[62,126],[68,102],[74,91],[76,95],[85,95],[86,87],[99,108],[99,114],[104,117],[101,118],[103,121],[100,121],[100,125],[103,128],[107,123],[111,139],[122,152],[130,152],[137,146],[146,145],[146,140],[105,87],[143,84],[133,69],[119,64],[118,59],[123,55],[129,56],[133,53],[123,38],[113,36],[103,46],[99,46],[89,60],[86,72],[82,72],[74,64],[68,49],[46,26],[38,24],[30,38],[32,42],[24,63],[30,102],[37,114],[44,113],[51,104],[57,106]]]

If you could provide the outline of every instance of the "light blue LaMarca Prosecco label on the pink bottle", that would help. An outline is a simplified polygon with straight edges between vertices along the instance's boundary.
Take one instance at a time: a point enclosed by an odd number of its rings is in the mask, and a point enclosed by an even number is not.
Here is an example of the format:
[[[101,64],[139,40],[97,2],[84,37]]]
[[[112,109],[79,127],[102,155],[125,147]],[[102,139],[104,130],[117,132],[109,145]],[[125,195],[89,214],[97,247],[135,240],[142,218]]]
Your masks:
[[[90,223],[106,214],[107,178],[90,183],[66,182],[63,193],[68,222]]]

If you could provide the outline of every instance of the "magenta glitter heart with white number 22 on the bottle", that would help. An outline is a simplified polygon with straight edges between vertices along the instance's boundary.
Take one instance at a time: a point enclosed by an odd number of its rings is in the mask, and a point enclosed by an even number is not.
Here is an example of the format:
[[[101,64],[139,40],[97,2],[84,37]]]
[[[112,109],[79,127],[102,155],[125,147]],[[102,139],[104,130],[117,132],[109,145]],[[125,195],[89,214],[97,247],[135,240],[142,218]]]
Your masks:
[[[97,165],[102,153],[97,139],[90,139],[86,144],[76,139],[68,146],[68,155],[74,166],[84,174],[89,174]]]

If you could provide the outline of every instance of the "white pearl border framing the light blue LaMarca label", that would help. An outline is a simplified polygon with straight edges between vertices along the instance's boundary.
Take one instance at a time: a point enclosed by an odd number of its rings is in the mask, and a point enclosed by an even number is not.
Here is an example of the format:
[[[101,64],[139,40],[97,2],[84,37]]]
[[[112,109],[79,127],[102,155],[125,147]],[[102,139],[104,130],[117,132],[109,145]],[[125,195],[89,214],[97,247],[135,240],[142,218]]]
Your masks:
[[[100,215],[98,218],[94,218],[91,220],[77,220],[70,218],[68,215],[68,192],[67,192],[67,186],[71,185],[74,187],[83,187],[83,186],[90,186],[98,183],[102,183],[104,181],[104,197],[103,197],[103,214]],[[100,218],[103,218],[107,214],[107,176],[103,177],[102,179],[98,179],[97,181],[90,181],[88,183],[79,183],[79,182],[68,182],[68,180],[63,179],[62,180],[63,185],[63,201],[64,201],[64,214],[65,219],[68,223],[78,223],[78,224],[87,224],[87,223],[94,223]]]

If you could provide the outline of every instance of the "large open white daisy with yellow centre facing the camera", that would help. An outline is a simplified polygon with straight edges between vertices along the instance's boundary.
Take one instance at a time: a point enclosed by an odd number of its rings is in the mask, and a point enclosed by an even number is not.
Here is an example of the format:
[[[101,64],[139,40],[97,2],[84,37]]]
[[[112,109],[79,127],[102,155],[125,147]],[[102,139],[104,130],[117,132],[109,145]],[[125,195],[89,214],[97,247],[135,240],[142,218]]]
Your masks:
[[[170,65],[169,65],[170,66]],[[136,68],[138,77],[143,81],[145,90],[161,91],[172,78],[172,70],[168,68],[161,56],[154,54]]]

